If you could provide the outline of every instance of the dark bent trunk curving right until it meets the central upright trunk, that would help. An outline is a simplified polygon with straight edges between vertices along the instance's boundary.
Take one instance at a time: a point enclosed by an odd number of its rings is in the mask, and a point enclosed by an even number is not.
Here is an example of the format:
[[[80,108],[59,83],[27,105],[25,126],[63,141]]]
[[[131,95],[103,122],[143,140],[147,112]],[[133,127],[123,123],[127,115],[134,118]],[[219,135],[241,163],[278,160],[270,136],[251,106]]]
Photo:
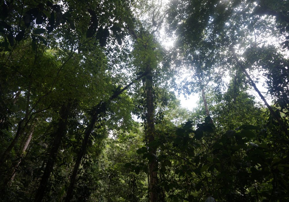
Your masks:
[[[127,84],[123,89],[120,89],[120,90],[114,92],[106,102],[100,102],[92,110],[93,111],[93,115],[92,115],[92,118],[90,120],[89,125],[86,127],[86,130],[84,132],[84,139],[82,141],[80,150],[79,150],[79,152],[77,154],[75,165],[73,167],[73,172],[72,172],[71,177],[70,177],[70,184],[69,184],[68,189],[66,191],[66,198],[65,198],[66,202],[69,202],[72,199],[72,197],[73,197],[73,189],[74,189],[74,185],[75,185],[75,182],[76,182],[76,177],[77,177],[78,169],[79,169],[79,166],[80,166],[80,163],[81,163],[81,159],[82,159],[82,157],[84,156],[84,154],[86,152],[89,136],[90,136],[90,134],[91,134],[91,132],[92,132],[92,130],[94,128],[94,125],[95,125],[96,121],[98,120],[98,118],[103,113],[105,113],[106,107],[108,106],[108,104],[110,104],[110,102],[112,100],[117,98],[123,91],[128,89],[133,83],[135,83],[136,81],[140,80],[140,78],[142,78],[146,74],[147,74],[147,72],[144,72],[143,74],[139,75],[137,78],[135,78],[129,84]]]

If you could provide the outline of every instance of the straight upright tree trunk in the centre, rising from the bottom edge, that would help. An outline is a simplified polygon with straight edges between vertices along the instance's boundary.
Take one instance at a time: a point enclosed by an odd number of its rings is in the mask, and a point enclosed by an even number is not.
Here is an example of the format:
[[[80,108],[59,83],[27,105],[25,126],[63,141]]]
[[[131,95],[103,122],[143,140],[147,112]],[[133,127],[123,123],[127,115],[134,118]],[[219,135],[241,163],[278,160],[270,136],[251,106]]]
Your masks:
[[[155,108],[153,105],[153,76],[150,66],[147,66],[148,75],[145,77],[145,89],[146,89],[146,105],[147,105],[147,136],[149,143],[155,140],[155,123],[154,115]],[[156,156],[156,149],[149,148],[149,152],[152,156]],[[158,162],[152,160],[149,162],[149,196],[150,202],[158,201]]]

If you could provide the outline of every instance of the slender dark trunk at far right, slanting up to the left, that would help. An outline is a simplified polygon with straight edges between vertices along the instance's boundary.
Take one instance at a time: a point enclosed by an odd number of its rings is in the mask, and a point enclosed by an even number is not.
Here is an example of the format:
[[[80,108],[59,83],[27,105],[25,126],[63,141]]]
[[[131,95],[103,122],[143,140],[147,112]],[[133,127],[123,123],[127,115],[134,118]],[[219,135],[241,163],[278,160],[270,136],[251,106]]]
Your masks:
[[[251,76],[248,74],[248,72],[246,71],[246,68],[242,65],[242,63],[239,61],[234,48],[231,48],[231,52],[237,62],[237,64],[240,66],[240,68],[242,69],[243,73],[247,76],[247,78],[249,79],[249,81],[251,82],[251,85],[253,86],[253,88],[255,89],[255,91],[258,93],[258,95],[260,96],[260,98],[263,100],[263,102],[265,103],[265,105],[267,106],[267,108],[269,109],[271,115],[277,120],[277,122],[279,123],[279,125],[281,126],[282,130],[285,132],[285,134],[288,136],[288,128],[286,127],[286,125],[284,124],[284,122],[280,119],[280,117],[276,114],[276,112],[273,110],[273,108],[268,104],[268,102],[266,101],[266,99],[264,98],[264,96],[262,95],[262,93],[259,91],[259,89],[257,88],[257,86],[255,85],[254,81],[252,80]]]

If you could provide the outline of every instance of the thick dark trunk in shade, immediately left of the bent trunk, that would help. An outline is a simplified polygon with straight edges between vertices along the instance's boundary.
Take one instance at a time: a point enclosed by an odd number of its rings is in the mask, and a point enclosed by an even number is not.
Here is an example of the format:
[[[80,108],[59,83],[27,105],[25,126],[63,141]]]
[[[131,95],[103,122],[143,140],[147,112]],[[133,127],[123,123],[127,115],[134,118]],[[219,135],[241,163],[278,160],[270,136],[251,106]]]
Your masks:
[[[52,145],[52,148],[50,150],[50,154],[48,157],[48,160],[46,162],[46,167],[44,169],[44,173],[42,175],[41,181],[40,181],[40,185],[38,187],[38,190],[36,192],[36,196],[34,201],[38,201],[41,202],[44,194],[45,194],[45,188],[48,182],[48,179],[50,177],[51,171],[53,169],[55,160],[56,160],[56,156],[60,147],[60,143],[61,140],[64,136],[64,134],[66,134],[66,130],[67,130],[67,122],[68,122],[68,115],[70,113],[71,110],[71,103],[69,102],[67,106],[62,106],[61,111],[60,111],[60,119],[58,121],[58,127],[57,130],[54,134],[54,142]]]

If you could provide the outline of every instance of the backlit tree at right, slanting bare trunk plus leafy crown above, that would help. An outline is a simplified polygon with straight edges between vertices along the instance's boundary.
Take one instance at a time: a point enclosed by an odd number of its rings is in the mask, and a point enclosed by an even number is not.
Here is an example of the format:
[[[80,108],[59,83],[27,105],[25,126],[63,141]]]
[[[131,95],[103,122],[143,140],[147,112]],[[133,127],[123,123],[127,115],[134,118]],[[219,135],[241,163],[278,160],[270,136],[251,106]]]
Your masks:
[[[263,3],[264,2],[260,2],[261,7]],[[254,21],[257,14],[255,12],[252,12],[252,10],[257,9],[258,6],[251,1],[242,1],[241,3],[238,3],[237,1],[203,1],[194,3],[182,2],[179,5],[177,4],[178,3],[176,2],[171,3],[171,11],[168,19],[170,20],[170,28],[176,30],[181,45],[185,44],[184,46],[186,47],[186,44],[189,44],[188,47],[192,47],[193,50],[198,50],[198,48],[203,48],[203,45],[200,42],[212,44],[209,49],[212,53],[214,53],[213,55],[211,55],[212,59],[217,58],[218,55],[223,55],[221,53],[224,51],[229,51],[227,52],[227,55],[233,55],[234,60],[238,63],[239,66],[241,66],[242,71],[251,81],[252,87],[254,87],[254,89],[261,97],[263,97],[262,94],[260,94],[260,91],[256,88],[255,83],[253,82],[253,80],[251,80],[251,77],[247,73],[246,67],[241,65],[236,55],[234,55],[234,49],[232,49],[232,47],[234,46],[238,46],[238,48],[240,49],[246,47],[248,43],[251,43],[251,41],[249,40],[247,40],[247,42],[246,40],[244,40],[244,38],[249,38],[251,36],[250,28],[256,26],[254,24],[259,24],[260,22],[263,23],[262,20],[259,20],[257,22]],[[198,8],[198,6],[200,6],[201,8],[200,10],[196,9]],[[237,7],[242,12],[236,12],[236,10],[234,9]],[[249,12],[249,14],[247,14],[246,12]],[[188,15],[189,17],[186,15]],[[250,18],[245,19],[245,15],[249,15]],[[230,23],[228,23],[227,20],[230,20]],[[180,21],[181,23],[177,23]],[[192,24],[197,24],[198,26],[192,27],[190,26]],[[248,26],[248,28],[244,27],[244,25],[246,24],[250,24],[250,26]],[[261,26],[264,26],[264,24]],[[225,29],[221,29],[221,27],[225,27]],[[261,27],[261,30],[262,29],[263,27]],[[238,30],[238,32],[235,33],[235,30]],[[244,42],[241,42],[242,40]],[[219,42],[222,42],[222,44],[219,44]],[[256,43],[257,42],[255,42],[255,45]],[[197,52],[199,53],[200,51]],[[189,50],[189,53],[192,55],[191,57],[196,57],[196,54],[193,53],[193,51]],[[224,56],[226,57],[226,55]],[[225,60],[231,60],[231,56],[229,56],[229,58],[230,59],[228,59],[227,57]],[[205,59],[201,61],[205,62]],[[266,100],[263,99],[263,101],[270,110],[272,116],[275,117],[280,126],[282,126],[283,131],[285,133],[288,133],[287,126],[282,123],[282,120],[278,118],[278,115],[275,114],[269,104],[266,103]]]

